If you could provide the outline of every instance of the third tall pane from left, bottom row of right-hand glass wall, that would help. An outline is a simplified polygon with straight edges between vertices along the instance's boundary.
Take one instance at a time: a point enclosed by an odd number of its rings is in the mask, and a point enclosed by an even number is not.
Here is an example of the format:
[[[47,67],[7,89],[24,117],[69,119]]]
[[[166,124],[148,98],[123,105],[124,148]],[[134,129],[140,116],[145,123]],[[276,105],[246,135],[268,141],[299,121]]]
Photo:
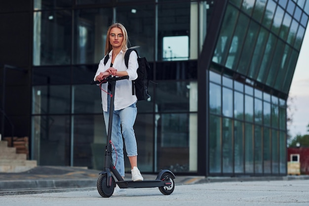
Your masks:
[[[244,172],[243,123],[234,121],[234,172]]]

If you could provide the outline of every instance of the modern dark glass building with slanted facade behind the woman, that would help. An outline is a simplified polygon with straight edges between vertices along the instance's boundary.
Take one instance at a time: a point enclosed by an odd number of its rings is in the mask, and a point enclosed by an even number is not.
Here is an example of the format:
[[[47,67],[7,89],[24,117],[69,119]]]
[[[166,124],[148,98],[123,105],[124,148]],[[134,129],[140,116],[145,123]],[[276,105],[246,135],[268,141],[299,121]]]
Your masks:
[[[155,82],[150,83],[151,98],[137,103],[141,172],[287,174],[286,102],[309,0],[1,4],[1,23],[25,30],[4,32],[14,42],[1,40],[0,63],[27,71],[3,72],[3,80],[12,83],[3,83],[2,90],[15,88],[21,99],[2,92],[2,108],[16,124],[15,133],[31,137],[30,157],[38,165],[103,168],[101,91],[90,82],[104,57],[107,29],[119,22],[131,46],[140,46],[139,54],[150,62]],[[23,81],[16,82],[11,73]],[[10,135],[7,121],[0,121],[2,133]]]

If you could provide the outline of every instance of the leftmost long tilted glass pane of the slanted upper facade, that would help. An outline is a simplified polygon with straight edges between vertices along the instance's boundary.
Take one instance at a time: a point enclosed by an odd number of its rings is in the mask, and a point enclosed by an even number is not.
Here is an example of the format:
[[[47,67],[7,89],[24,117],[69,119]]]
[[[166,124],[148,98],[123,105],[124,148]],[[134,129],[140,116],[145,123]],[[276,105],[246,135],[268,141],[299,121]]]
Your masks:
[[[225,59],[229,53],[230,43],[232,41],[232,34],[237,21],[237,16],[238,11],[229,4],[227,11],[225,12],[225,17],[221,27],[214,56],[212,57],[213,62],[224,64]]]

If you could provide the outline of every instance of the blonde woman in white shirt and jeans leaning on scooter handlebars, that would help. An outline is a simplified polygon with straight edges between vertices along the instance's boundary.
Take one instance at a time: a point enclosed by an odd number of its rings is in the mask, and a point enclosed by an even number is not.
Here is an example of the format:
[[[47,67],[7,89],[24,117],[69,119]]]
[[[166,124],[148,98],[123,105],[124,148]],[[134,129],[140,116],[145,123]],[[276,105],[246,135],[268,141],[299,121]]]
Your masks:
[[[132,95],[132,80],[137,78],[136,70],[138,68],[137,54],[131,52],[129,56],[128,68],[124,63],[124,54],[128,43],[127,31],[122,24],[112,24],[107,32],[105,55],[109,55],[109,60],[104,65],[104,58],[100,61],[98,70],[95,74],[95,81],[102,81],[110,75],[123,77],[129,76],[129,79],[116,82],[115,88],[115,110],[112,127],[112,143],[115,146],[112,152],[114,163],[119,174],[124,177],[124,157],[123,141],[124,138],[126,153],[131,164],[131,174],[133,181],[143,181],[143,177],[137,167],[137,144],[133,125],[137,115],[137,98]],[[107,91],[108,85],[102,84],[102,89]],[[110,93],[110,92],[109,92]],[[101,91],[102,108],[105,120],[106,130],[108,130],[110,95]],[[121,125],[121,127],[120,127]],[[115,151],[116,150],[116,151]],[[124,195],[125,190],[120,189],[118,185],[113,195]]]

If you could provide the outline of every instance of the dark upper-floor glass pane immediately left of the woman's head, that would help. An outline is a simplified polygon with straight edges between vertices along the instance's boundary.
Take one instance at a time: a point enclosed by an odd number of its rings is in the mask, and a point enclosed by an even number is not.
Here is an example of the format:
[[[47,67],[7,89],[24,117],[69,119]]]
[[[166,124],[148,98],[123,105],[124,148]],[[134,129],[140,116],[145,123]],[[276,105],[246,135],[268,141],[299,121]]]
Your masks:
[[[112,8],[75,11],[75,64],[99,64],[105,55],[106,33],[112,22],[112,14]]]

